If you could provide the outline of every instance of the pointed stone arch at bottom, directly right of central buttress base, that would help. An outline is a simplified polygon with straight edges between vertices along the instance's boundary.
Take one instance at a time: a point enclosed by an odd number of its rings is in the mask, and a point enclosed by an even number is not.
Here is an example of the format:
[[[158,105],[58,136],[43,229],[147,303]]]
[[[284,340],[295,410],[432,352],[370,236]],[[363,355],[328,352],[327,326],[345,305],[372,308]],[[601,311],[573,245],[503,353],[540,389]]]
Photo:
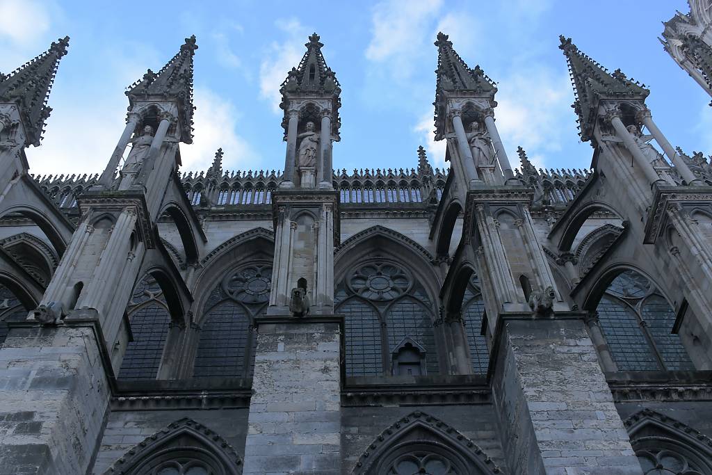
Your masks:
[[[426,464],[468,475],[500,473],[474,442],[454,427],[424,412],[412,412],[385,429],[358,459],[353,475],[420,473]],[[398,471],[400,466],[410,470]],[[445,472],[443,472],[445,473]]]

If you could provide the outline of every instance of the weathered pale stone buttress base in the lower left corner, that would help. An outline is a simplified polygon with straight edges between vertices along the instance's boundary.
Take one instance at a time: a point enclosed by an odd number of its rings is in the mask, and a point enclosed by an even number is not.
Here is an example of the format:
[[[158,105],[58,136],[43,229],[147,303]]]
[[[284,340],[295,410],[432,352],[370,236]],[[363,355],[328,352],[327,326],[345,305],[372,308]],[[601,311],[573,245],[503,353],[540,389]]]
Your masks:
[[[92,328],[14,328],[0,348],[0,474],[84,474],[109,400]]]

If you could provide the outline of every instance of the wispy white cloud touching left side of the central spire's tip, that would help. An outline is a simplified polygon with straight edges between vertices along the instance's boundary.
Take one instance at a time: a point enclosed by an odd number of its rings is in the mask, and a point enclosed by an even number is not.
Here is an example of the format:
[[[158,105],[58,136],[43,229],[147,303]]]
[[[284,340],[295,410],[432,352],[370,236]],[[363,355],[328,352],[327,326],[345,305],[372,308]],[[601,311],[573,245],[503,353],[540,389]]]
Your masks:
[[[298,19],[278,20],[276,26],[287,33],[287,39],[282,43],[273,41],[260,64],[260,97],[270,102],[275,113],[280,113],[282,95],[279,88],[290,69],[295,68],[304,56],[303,44],[309,30]]]

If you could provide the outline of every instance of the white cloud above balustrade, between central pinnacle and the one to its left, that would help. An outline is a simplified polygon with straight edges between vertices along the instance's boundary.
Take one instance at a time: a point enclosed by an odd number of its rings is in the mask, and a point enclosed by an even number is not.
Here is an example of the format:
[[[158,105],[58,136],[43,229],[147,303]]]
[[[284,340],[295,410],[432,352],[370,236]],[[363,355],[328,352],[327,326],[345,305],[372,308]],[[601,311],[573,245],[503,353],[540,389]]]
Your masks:
[[[182,169],[208,169],[219,147],[225,153],[224,169],[258,167],[256,152],[235,132],[240,115],[234,105],[207,88],[196,88],[193,100],[195,134],[192,145],[181,146]]]

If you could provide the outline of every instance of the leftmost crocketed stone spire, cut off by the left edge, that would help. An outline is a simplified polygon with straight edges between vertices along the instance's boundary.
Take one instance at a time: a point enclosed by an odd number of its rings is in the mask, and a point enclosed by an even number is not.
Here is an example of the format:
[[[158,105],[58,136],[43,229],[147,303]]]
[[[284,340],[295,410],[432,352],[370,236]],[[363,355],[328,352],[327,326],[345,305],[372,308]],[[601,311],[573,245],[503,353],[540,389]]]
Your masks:
[[[66,55],[69,36],[59,38],[50,48],[9,75],[0,73],[0,102],[19,105],[25,130],[25,146],[38,147],[52,108],[47,100],[59,60]]]

